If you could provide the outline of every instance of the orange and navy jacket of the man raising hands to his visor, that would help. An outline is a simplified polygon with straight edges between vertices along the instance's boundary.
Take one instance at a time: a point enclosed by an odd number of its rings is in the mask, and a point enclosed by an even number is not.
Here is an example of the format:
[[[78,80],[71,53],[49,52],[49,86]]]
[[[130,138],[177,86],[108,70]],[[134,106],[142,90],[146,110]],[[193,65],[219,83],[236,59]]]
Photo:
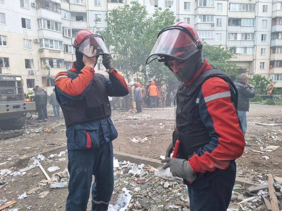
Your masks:
[[[74,64],[70,71],[77,71]],[[83,99],[90,89],[94,73],[95,70],[88,66],[85,66],[75,79],[66,72],[59,72],[55,77],[55,86],[60,103],[69,106],[71,100]],[[109,79],[105,76],[104,79],[108,96],[121,97],[129,93],[124,78],[115,69],[109,74]],[[90,149],[117,138],[117,130],[108,117],[68,127],[66,137],[68,150]]]

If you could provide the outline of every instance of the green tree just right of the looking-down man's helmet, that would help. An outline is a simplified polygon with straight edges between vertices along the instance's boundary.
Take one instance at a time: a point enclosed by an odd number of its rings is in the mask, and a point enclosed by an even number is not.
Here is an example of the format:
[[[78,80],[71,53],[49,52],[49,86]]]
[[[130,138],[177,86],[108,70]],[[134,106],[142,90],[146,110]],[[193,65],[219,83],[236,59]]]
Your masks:
[[[206,42],[203,43],[202,55],[204,59],[208,59],[208,62],[217,69],[222,70],[227,75],[237,75],[237,66],[235,62],[229,59],[236,57],[231,54],[230,51],[224,47],[208,45]]]

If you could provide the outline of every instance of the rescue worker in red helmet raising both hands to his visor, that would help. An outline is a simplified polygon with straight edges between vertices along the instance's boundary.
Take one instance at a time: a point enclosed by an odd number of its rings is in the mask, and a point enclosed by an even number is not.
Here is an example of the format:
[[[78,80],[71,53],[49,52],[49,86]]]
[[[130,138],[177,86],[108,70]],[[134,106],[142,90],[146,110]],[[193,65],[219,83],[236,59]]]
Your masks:
[[[117,131],[110,119],[108,96],[129,93],[123,77],[112,67],[103,38],[90,30],[77,33],[76,61],[55,77],[55,92],[66,123],[68,197],[66,211],[85,211],[92,176],[92,210],[106,211],[113,193],[113,139]],[[95,72],[99,56],[109,79]]]

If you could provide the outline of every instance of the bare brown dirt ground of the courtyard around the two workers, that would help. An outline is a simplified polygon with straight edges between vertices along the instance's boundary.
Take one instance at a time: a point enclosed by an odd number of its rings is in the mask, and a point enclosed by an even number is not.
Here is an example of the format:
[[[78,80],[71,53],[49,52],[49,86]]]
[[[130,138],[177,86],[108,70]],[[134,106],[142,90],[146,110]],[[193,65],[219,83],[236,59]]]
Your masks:
[[[51,106],[48,106],[48,115],[46,122],[38,123],[33,119],[29,120],[28,124],[21,130],[0,132],[0,170],[12,168],[12,171],[18,171],[27,167],[27,165],[19,165],[19,157],[33,153],[40,154],[41,151],[52,149],[52,145],[46,144],[66,143],[64,120],[53,117]],[[251,104],[250,112],[247,113],[246,141],[252,146],[245,147],[243,156],[236,160],[238,171],[243,171],[243,174],[264,176],[271,173],[273,177],[282,176],[281,117],[281,105]],[[172,140],[174,109],[143,110],[142,114],[117,110],[113,111],[112,120],[118,131],[118,138],[113,141],[116,151],[160,159],[160,155],[165,154],[167,145]],[[257,123],[277,125],[266,126]],[[280,147],[276,151],[263,152],[263,154],[251,151],[261,152],[260,147],[265,148],[268,145]],[[262,158],[263,156],[268,156],[269,160]],[[63,171],[68,163],[67,153],[63,154],[61,158],[66,158],[66,160],[46,159],[41,164],[45,170],[55,164],[61,168],[59,171]],[[55,172],[48,172],[48,174],[51,176]],[[34,210],[65,209],[67,188],[51,189],[48,186],[38,185],[41,180],[46,179],[39,167],[27,171],[23,176],[8,175],[4,176],[3,179],[7,181],[7,185],[0,189],[0,200],[2,198],[6,198],[8,201],[16,200],[15,207],[19,210],[26,210],[28,206],[32,206]],[[17,199],[18,195],[38,186],[41,188],[40,190],[28,195],[27,198]],[[50,192],[45,198],[40,199],[38,195],[42,191]],[[115,200],[115,197],[113,197],[113,200]],[[88,203],[88,208],[90,207],[91,201]]]

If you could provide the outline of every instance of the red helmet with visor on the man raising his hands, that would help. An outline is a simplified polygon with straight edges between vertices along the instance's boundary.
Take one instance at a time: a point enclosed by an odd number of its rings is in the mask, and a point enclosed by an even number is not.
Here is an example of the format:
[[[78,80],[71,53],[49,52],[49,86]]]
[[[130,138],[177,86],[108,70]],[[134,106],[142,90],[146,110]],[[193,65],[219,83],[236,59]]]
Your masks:
[[[91,51],[91,47],[94,50],[97,50],[96,55],[93,55],[93,52],[85,52],[84,48],[89,45],[89,50]],[[83,53],[85,56],[97,57],[99,55],[108,54],[110,55],[102,36],[95,34],[93,31],[83,29],[80,30],[75,36],[75,40],[73,42],[73,47],[80,53]]]

